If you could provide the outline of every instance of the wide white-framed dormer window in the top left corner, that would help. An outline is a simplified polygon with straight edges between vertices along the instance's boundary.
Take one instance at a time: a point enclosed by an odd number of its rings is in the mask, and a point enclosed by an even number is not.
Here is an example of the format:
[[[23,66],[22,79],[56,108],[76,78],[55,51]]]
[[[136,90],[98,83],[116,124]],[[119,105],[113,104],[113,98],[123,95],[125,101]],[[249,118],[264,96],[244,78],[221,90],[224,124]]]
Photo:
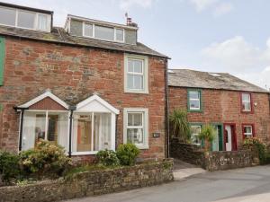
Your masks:
[[[29,30],[50,31],[50,14],[1,6],[0,24]]]

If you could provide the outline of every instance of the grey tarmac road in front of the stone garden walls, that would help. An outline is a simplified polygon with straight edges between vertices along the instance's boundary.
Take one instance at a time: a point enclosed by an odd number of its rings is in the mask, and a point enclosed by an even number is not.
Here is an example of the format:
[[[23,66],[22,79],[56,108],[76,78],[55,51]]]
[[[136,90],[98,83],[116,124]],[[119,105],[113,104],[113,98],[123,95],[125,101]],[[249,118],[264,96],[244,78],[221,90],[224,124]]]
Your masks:
[[[269,202],[270,165],[205,172],[151,188],[69,202]]]

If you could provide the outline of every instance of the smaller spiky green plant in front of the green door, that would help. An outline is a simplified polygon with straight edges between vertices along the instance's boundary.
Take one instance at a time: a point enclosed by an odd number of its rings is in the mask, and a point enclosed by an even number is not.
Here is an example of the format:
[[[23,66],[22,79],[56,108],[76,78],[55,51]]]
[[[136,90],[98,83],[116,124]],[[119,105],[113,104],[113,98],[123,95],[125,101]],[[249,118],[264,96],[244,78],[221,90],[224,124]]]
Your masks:
[[[204,143],[205,152],[210,151],[211,149],[211,142],[215,138],[214,133],[215,133],[214,127],[212,127],[211,125],[207,124],[202,127],[201,133],[199,134],[198,137]]]

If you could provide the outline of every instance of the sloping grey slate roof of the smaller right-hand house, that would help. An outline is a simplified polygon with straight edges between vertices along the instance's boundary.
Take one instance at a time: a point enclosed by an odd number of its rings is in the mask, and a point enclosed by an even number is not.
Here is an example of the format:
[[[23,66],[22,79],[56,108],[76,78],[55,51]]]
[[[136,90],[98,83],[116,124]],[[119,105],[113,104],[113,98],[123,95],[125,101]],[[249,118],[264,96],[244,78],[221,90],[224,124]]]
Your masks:
[[[207,88],[245,92],[268,92],[228,73],[208,73],[190,69],[168,71],[168,85],[190,88]]]

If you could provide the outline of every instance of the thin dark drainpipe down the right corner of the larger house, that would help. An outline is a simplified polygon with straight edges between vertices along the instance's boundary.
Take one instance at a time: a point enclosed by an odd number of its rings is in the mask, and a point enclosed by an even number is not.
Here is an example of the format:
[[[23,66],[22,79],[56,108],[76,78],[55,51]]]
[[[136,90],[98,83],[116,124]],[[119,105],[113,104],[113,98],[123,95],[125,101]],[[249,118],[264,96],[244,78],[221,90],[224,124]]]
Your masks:
[[[169,121],[168,121],[168,117],[169,117],[169,113],[168,113],[168,74],[167,74],[167,58],[165,61],[165,124],[166,124],[166,132],[165,132],[165,156],[166,158],[168,158],[169,155]]]

